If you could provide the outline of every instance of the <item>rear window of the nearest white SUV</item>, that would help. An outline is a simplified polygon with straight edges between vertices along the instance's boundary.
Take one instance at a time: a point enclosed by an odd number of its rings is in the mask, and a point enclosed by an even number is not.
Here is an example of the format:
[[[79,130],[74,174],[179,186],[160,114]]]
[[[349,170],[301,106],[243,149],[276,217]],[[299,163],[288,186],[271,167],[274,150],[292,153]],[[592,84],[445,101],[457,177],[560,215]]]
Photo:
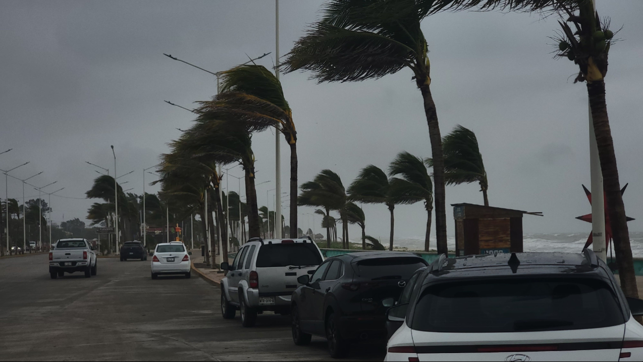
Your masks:
[[[520,278],[430,285],[412,328],[431,332],[528,332],[624,323],[611,288],[588,278]]]

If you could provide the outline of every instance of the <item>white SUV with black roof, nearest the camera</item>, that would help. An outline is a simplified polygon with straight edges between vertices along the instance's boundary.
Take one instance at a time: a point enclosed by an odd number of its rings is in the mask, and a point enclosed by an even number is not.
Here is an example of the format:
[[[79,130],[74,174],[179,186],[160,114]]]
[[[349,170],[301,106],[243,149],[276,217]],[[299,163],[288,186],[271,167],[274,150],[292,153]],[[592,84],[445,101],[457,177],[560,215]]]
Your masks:
[[[385,361],[641,361],[643,300],[592,251],[442,255],[410,282]]]

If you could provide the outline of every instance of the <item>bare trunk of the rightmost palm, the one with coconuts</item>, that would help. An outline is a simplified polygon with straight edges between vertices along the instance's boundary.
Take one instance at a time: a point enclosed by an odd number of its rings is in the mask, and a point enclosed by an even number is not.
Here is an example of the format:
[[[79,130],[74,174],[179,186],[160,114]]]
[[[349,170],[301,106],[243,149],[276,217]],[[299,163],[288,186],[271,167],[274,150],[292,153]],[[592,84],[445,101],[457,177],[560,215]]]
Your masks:
[[[614,252],[619,267],[620,287],[626,296],[638,298],[637,280],[629,244],[629,230],[625,216],[623,197],[620,194],[619,169],[611,138],[610,120],[605,102],[605,82],[587,82],[596,143],[601,159],[603,186],[607,197],[611,230],[614,239]]]

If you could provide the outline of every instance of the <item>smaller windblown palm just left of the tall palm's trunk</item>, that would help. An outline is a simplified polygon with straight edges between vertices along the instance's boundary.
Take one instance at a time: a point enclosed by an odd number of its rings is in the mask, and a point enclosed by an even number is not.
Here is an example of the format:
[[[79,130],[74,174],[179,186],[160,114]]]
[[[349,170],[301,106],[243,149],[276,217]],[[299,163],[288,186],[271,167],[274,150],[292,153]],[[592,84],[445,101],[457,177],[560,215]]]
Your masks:
[[[445,158],[446,161],[446,158]],[[424,201],[426,209],[426,234],[424,251],[429,251],[431,235],[431,212],[433,212],[433,183],[421,158],[408,152],[400,152],[388,167],[390,176],[401,176],[394,181],[393,192],[401,204],[414,204]]]

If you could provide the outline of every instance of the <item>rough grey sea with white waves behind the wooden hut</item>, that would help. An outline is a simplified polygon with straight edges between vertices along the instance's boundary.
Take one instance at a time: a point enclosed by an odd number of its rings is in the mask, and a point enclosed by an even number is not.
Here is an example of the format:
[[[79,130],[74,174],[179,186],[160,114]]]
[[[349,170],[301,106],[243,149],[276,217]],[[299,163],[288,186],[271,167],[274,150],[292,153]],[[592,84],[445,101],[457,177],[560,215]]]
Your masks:
[[[523,235],[524,251],[565,251],[580,252],[587,241],[587,233],[536,233]],[[629,239],[634,257],[643,258],[643,232],[630,231]],[[361,242],[361,240],[351,240]],[[431,239],[431,250],[435,250],[435,239]],[[382,238],[382,244],[388,247],[388,240]],[[447,239],[449,250],[455,250],[455,237]],[[424,237],[407,237],[395,239],[394,247],[408,250],[423,250]],[[608,257],[610,252],[608,251]]]

